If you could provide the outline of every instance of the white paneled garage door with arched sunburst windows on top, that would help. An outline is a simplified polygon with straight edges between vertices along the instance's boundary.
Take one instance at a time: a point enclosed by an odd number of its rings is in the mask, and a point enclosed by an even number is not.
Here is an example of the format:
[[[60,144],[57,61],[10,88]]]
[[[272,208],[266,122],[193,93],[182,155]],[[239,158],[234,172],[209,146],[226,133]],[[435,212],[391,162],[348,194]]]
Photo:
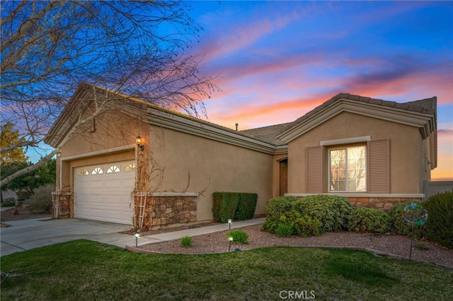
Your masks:
[[[134,161],[77,167],[75,173],[76,218],[132,224]]]

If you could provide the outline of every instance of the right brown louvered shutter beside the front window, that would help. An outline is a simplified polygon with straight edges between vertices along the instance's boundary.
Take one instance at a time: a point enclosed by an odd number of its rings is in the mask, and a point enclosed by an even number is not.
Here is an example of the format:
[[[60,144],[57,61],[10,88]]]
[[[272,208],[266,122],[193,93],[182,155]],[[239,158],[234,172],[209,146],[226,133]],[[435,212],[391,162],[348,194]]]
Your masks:
[[[390,193],[390,141],[368,142],[368,192]]]

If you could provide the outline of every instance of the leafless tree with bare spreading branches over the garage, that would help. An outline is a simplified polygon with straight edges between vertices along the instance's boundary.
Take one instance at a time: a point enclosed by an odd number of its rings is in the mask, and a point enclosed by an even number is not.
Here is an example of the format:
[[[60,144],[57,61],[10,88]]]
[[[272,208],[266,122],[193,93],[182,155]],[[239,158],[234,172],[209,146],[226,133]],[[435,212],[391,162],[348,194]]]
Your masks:
[[[218,88],[189,53],[202,30],[189,12],[183,1],[2,1],[1,122],[25,138],[8,148],[39,147],[81,82],[206,114]]]

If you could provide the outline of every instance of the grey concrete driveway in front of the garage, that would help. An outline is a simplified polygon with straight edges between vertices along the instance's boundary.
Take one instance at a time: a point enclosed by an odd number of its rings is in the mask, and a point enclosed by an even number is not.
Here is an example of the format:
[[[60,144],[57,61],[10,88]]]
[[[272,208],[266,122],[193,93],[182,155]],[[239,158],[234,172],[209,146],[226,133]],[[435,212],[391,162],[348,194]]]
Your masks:
[[[6,224],[11,226],[0,229],[0,256],[82,238],[118,247],[135,244],[134,236],[119,233],[130,230],[131,225],[75,218],[16,220]],[[144,240],[141,243],[145,243]]]

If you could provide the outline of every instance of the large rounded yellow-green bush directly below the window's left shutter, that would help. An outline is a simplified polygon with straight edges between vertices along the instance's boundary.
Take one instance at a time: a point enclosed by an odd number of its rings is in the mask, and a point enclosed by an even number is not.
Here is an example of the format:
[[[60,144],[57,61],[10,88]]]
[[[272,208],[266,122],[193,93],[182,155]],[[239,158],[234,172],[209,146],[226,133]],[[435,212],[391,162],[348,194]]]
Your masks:
[[[304,196],[292,203],[292,208],[302,216],[317,218],[325,232],[348,228],[348,216],[354,209],[347,198],[328,194]]]

